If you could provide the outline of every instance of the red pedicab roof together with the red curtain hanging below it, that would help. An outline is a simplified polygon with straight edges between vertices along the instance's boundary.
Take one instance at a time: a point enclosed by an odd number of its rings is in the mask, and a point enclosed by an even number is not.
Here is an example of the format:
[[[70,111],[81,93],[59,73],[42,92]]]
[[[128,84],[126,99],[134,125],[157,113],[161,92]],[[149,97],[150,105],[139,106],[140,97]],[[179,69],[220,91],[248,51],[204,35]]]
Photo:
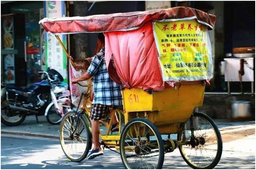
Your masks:
[[[53,34],[105,32],[105,60],[111,78],[124,87],[161,91],[166,84],[157,59],[152,21],[177,19],[196,19],[212,29],[216,17],[197,9],[176,7],[87,17],[45,18],[39,24]]]

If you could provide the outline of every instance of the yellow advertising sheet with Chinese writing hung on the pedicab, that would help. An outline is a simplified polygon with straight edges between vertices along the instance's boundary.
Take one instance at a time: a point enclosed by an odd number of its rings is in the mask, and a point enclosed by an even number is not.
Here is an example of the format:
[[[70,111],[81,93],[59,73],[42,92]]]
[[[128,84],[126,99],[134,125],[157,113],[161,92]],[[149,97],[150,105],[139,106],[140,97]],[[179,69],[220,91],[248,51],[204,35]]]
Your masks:
[[[153,22],[163,81],[212,78],[207,27],[196,20]]]

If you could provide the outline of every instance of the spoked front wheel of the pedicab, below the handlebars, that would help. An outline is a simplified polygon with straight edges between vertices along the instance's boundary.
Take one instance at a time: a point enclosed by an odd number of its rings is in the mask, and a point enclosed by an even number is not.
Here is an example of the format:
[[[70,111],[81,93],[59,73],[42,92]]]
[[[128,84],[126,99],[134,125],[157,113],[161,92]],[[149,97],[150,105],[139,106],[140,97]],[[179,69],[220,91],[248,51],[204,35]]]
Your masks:
[[[69,111],[63,116],[60,123],[60,145],[71,161],[83,161],[91,149],[92,134],[89,127],[85,113]]]

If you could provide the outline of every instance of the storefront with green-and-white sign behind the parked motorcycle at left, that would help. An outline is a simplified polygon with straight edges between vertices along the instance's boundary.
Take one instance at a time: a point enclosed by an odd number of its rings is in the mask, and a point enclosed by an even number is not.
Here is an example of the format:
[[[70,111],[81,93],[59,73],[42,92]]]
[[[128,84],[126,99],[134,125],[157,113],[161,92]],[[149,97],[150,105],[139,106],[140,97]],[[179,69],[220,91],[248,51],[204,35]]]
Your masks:
[[[1,82],[29,85],[40,80],[39,70],[48,67],[66,78],[66,57],[38,24],[44,17],[65,15],[65,2],[1,2],[1,9]]]

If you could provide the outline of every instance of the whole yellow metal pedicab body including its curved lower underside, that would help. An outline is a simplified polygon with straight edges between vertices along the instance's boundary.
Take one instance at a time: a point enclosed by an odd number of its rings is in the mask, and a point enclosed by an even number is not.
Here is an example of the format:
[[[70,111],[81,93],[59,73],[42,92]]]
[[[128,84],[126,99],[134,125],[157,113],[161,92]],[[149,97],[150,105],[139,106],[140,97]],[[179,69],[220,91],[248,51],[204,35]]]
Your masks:
[[[176,88],[153,91],[124,89],[125,123],[134,117],[146,117],[154,123],[161,134],[178,133],[179,124],[186,122],[195,107],[202,106],[205,83],[184,81]]]

